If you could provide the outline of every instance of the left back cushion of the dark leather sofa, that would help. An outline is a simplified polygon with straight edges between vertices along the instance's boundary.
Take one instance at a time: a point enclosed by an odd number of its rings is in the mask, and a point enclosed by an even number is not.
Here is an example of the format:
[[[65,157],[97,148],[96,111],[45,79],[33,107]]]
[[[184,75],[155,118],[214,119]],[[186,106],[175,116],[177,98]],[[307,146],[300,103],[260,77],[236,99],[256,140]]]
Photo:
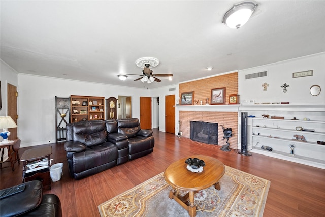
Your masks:
[[[87,122],[72,127],[72,140],[85,144],[87,147],[106,142],[107,131],[105,122]]]

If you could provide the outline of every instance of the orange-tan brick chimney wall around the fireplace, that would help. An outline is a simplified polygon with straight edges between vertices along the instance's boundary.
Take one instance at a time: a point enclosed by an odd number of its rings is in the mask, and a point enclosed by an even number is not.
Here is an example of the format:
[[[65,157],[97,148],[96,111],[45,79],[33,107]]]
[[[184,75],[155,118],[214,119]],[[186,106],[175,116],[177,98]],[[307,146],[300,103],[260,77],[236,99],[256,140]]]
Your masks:
[[[182,92],[194,92],[194,100],[202,100],[205,104],[205,99],[209,98],[211,103],[211,89],[225,87],[225,104],[229,103],[229,95],[238,94],[238,72],[225,75],[205,78],[202,80],[191,81],[179,84],[179,96]],[[205,121],[218,123],[218,145],[226,144],[226,139],[223,139],[224,128],[232,128],[233,136],[229,138],[230,148],[238,149],[238,112],[211,112],[211,111],[179,111],[179,120],[182,121],[182,136],[189,138],[190,125],[189,121]]]

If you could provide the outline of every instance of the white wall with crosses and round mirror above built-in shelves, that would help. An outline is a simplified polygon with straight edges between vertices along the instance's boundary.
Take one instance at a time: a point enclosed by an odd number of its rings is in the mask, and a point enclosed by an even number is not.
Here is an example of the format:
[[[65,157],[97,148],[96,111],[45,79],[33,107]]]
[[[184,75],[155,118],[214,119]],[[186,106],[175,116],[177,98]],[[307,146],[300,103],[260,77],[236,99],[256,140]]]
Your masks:
[[[255,100],[262,102],[290,102],[290,104],[325,103],[325,52],[273,63],[265,66],[239,70],[238,92],[240,102]],[[313,70],[313,76],[293,78],[294,72]],[[268,71],[268,77],[245,80],[246,74]],[[267,91],[263,91],[262,84],[268,83]],[[289,85],[287,92],[283,92],[284,83]],[[312,96],[309,89],[318,84],[321,92]]]

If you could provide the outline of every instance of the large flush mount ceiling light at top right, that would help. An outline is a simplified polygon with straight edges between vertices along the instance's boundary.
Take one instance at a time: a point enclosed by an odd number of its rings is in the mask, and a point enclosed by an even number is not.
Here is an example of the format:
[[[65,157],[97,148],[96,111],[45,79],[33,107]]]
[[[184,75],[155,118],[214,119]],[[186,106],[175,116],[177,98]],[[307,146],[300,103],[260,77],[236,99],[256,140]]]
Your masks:
[[[257,4],[252,2],[242,2],[234,5],[223,16],[223,23],[230,28],[243,26],[254,13]]]

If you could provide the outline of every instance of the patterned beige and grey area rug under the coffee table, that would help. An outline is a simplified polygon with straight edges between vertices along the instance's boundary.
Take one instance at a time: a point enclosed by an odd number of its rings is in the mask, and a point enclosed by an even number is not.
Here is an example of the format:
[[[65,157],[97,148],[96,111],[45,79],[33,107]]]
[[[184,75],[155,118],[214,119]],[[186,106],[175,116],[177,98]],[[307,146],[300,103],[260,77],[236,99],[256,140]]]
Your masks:
[[[196,216],[263,216],[270,181],[225,166],[221,190],[213,186],[197,192]],[[170,185],[160,173],[98,206],[102,217],[113,216],[189,216],[168,197]],[[187,192],[181,192],[185,195]]]

